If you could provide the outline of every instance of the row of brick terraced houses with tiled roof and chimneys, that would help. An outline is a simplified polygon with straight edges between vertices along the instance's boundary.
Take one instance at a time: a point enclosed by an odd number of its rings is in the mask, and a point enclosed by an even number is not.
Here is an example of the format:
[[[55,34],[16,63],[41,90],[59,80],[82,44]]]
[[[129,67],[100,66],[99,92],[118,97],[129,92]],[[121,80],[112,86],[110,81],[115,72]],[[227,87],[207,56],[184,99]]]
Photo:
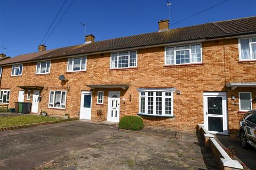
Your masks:
[[[235,134],[256,106],[256,16],[95,41],[0,61],[0,103],[31,112]],[[41,100],[38,100],[38,97]]]

